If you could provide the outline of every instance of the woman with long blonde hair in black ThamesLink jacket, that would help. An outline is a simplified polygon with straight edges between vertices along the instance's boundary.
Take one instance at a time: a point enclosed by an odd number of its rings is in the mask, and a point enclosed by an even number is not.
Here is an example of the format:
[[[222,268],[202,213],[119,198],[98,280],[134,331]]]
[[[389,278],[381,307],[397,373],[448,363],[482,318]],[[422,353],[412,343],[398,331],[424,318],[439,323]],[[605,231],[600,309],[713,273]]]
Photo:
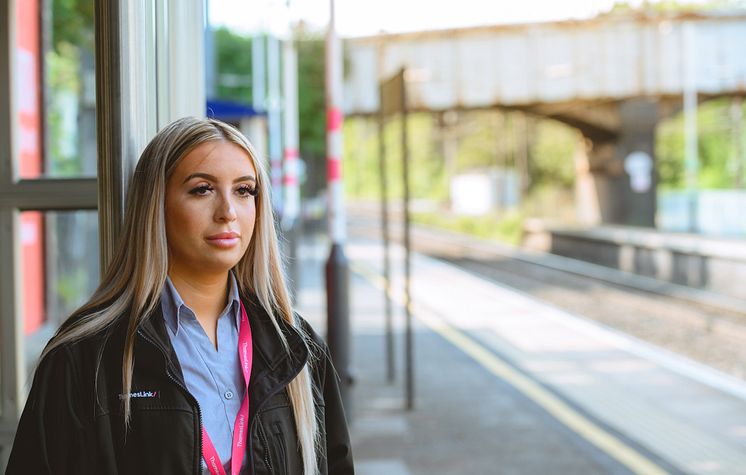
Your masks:
[[[336,373],[288,298],[267,184],[227,124],[158,133],[101,285],[42,353],[8,474],[353,473]]]

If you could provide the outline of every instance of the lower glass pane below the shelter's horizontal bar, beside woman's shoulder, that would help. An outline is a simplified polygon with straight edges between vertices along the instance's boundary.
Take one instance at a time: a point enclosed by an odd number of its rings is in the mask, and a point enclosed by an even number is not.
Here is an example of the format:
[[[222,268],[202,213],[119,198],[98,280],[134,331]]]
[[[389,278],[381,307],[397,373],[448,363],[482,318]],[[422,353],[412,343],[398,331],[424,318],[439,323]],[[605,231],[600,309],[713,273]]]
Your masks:
[[[20,240],[30,375],[47,340],[98,285],[98,215],[96,211],[26,211],[20,217]]]

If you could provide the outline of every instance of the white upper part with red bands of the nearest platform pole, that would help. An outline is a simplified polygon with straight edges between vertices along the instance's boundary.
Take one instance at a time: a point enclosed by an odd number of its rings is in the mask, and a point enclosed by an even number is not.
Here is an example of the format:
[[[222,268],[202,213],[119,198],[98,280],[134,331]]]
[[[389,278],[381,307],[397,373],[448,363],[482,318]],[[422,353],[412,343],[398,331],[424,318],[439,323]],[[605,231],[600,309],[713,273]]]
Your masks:
[[[342,43],[335,28],[334,0],[330,0],[326,56],[326,153],[329,233],[333,243],[343,244],[346,232],[342,181]]]

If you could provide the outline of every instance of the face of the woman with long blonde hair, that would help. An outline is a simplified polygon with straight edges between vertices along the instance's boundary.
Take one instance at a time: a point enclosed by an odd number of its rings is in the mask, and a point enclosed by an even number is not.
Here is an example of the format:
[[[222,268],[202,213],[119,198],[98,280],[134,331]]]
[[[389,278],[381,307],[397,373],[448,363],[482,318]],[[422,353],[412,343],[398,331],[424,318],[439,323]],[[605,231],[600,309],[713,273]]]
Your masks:
[[[166,183],[169,272],[220,274],[238,263],[254,232],[256,170],[227,141],[188,153]]]

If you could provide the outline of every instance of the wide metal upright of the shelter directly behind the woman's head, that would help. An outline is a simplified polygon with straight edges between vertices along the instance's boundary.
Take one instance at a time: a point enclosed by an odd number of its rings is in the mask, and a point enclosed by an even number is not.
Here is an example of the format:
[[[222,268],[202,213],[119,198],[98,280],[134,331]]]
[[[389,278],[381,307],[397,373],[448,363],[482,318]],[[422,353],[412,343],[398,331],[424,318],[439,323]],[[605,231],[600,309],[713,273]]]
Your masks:
[[[137,158],[158,131],[155,10],[122,0],[95,2],[96,137],[101,274],[121,235]]]

